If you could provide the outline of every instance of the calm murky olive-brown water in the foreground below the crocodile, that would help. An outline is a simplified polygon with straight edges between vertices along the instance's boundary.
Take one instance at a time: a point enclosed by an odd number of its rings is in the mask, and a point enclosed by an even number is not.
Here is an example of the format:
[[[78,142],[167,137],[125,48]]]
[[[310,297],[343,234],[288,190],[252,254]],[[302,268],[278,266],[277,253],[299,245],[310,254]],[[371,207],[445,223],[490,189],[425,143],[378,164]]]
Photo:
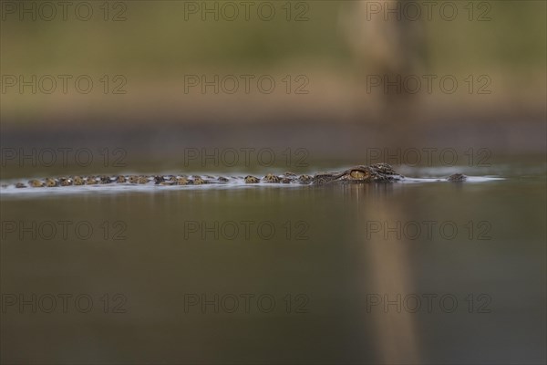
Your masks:
[[[545,195],[544,174],[3,194],[2,361],[542,362]]]

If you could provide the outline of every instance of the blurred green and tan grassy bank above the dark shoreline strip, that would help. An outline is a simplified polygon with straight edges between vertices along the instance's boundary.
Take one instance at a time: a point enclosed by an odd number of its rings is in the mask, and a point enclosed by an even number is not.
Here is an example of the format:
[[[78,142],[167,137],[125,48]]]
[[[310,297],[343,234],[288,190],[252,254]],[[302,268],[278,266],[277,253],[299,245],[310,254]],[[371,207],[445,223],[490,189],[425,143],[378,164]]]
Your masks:
[[[291,120],[293,114],[314,119],[325,113],[332,123],[390,120],[391,115],[380,108],[385,103],[383,90],[367,93],[366,76],[385,74],[387,63],[404,58],[410,67],[403,62],[389,69],[392,75],[454,75],[459,80],[454,94],[438,87],[427,93],[422,86],[412,95],[411,102],[418,105],[412,110],[417,120],[439,122],[452,113],[462,118],[474,113],[537,119],[544,112],[544,2],[449,2],[456,6],[453,20],[443,18],[451,11],[440,10],[443,2],[431,8],[429,20],[424,3],[412,2],[421,9],[418,21],[408,20],[414,10],[404,7],[404,1],[399,4],[400,20],[394,14],[372,12],[373,5],[395,6],[395,2],[253,2],[248,20],[241,2],[232,2],[239,11],[233,21],[228,19],[232,7],[217,2],[129,1],[108,6],[91,2],[89,21],[77,18],[78,2],[68,7],[66,21],[58,5],[51,21],[41,18],[48,10],[44,8],[42,14],[36,5],[36,21],[32,21],[31,14],[21,16],[17,10],[32,9],[36,2],[15,3],[15,11],[9,8],[8,12],[3,5],[2,74],[89,75],[94,88],[81,94],[69,81],[67,94],[60,92],[60,85],[49,95],[5,89],[5,124],[36,124],[46,119],[72,124],[81,118],[94,124],[114,119],[131,122],[143,115],[145,123],[168,117],[186,123],[237,123],[255,121],[267,113],[280,114],[279,123]],[[263,3],[274,7],[273,20],[259,16]],[[189,13],[191,6],[198,6],[197,13]],[[214,14],[201,15],[205,6],[217,6],[218,20]],[[390,42],[397,46],[399,40],[406,46],[386,47]],[[413,58],[417,62],[410,65],[408,59]],[[244,93],[243,87],[234,94],[213,94],[212,88],[205,94],[199,88],[184,92],[185,75],[212,79],[215,74],[221,78],[273,75],[277,85],[272,94],[256,88]],[[111,94],[117,83],[110,80],[105,94],[98,80],[104,75],[122,75],[127,80],[122,89],[127,93]],[[309,93],[294,94],[294,83],[287,94],[281,81],[285,75],[304,75]],[[475,78],[472,93],[464,81],[469,75]],[[477,81],[480,75],[490,78],[489,95],[476,92],[482,84]],[[391,99],[388,104],[389,109],[398,108]]]

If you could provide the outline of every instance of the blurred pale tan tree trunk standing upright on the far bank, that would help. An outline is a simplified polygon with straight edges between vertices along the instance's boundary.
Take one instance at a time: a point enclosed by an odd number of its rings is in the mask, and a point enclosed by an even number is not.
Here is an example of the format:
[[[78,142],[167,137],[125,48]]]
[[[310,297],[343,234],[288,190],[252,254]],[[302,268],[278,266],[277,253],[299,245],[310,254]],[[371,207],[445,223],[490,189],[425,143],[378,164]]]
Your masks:
[[[421,79],[426,53],[421,17],[411,20],[414,12],[409,16],[405,3],[351,2],[341,18],[354,54],[366,114],[402,134],[406,126],[419,119],[419,92],[408,93],[410,88],[404,88],[402,83],[408,76]],[[374,86],[378,78],[381,85]]]

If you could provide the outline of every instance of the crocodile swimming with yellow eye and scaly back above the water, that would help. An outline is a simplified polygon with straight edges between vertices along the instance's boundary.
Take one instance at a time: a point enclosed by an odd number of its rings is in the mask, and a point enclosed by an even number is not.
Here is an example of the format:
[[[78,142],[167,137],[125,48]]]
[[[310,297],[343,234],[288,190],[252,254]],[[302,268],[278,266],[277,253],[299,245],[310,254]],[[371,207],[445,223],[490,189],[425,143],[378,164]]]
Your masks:
[[[242,181],[244,183],[300,183],[300,184],[329,184],[329,183],[380,183],[397,182],[405,177],[398,174],[387,163],[359,165],[341,172],[318,172],[315,175],[297,175],[285,172],[282,175],[266,174],[262,179],[252,175],[245,177],[213,177],[213,176],[186,176],[186,175],[116,175],[116,176],[65,176],[46,177],[42,180],[33,179],[28,183],[15,183],[16,188],[41,188],[72,185],[95,185],[108,183],[126,184],[156,184],[156,185],[201,185],[204,183],[230,183]],[[461,173],[450,175],[446,180],[463,182],[467,176]]]

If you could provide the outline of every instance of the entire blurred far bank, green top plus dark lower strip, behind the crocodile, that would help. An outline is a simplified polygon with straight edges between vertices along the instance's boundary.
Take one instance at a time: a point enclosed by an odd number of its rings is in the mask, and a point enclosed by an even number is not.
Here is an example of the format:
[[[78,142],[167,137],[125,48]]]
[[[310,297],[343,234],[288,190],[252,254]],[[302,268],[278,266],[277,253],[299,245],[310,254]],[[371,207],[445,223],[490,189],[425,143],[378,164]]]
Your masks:
[[[42,3],[2,4],[5,147],[121,148],[134,170],[178,167],[184,148],[304,148],[312,165],[362,163],[366,148],[545,151],[542,1],[274,1],[248,13],[241,2],[72,2],[66,20],[52,3],[50,21]],[[70,77],[66,92],[59,75]],[[57,89],[20,89],[33,76]],[[75,86],[82,76],[88,93]],[[188,83],[215,76],[218,92]],[[418,91],[372,84],[397,76],[417,78]],[[261,77],[274,79],[272,92]],[[447,77],[453,93],[441,89]]]

